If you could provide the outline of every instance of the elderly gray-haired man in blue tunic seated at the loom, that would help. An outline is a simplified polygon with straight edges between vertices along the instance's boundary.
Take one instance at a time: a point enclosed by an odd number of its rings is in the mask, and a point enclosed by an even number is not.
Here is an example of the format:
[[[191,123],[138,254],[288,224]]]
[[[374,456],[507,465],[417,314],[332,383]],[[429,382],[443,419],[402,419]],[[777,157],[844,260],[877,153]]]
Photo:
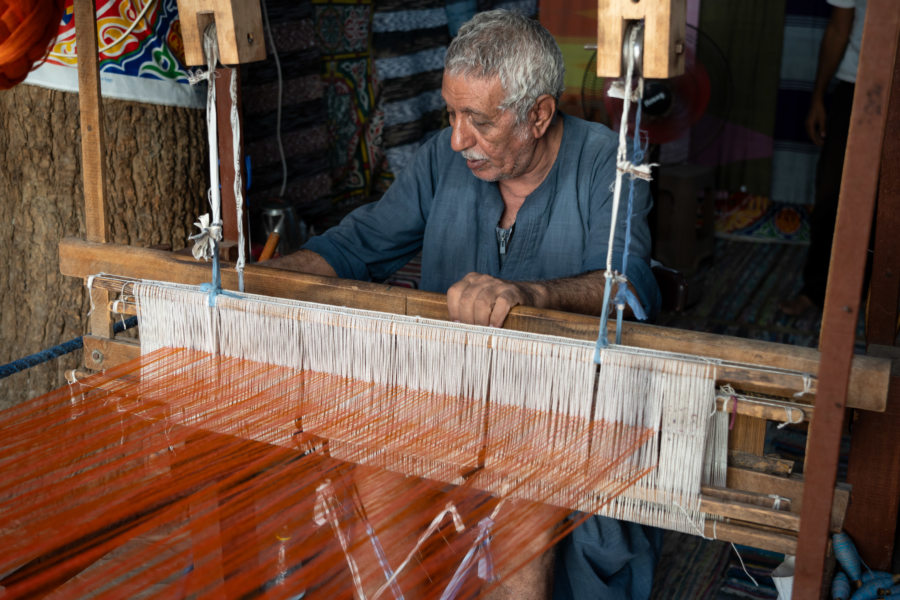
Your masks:
[[[447,294],[452,319],[499,327],[518,304],[598,314],[616,136],[557,111],[562,54],[524,16],[477,14],[444,65],[450,128],[422,146],[381,200],[275,264],[381,280],[421,250],[422,288]],[[649,208],[641,184],[626,275],[652,314],[659,290],[648,261]],[[614,265],[624,251],[620,222]],[[654,544],[640,526],[593,517],[556,555],[554,597],[649,595]]]

